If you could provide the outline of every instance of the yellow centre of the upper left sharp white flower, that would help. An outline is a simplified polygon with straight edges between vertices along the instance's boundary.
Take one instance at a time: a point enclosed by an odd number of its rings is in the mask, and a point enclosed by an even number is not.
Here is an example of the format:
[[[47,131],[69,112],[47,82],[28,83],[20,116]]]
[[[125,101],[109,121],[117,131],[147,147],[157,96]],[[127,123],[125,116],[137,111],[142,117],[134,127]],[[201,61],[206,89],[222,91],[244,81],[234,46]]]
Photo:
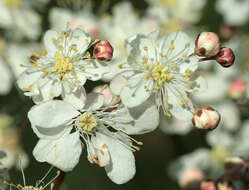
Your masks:
[[[52,67],[52,72],[55,72],[60,79],[63,79],[64,75],[72,71],[72,69],[73,64],[70,63],[69,58],[59,53],[55,54],[55,64]]]

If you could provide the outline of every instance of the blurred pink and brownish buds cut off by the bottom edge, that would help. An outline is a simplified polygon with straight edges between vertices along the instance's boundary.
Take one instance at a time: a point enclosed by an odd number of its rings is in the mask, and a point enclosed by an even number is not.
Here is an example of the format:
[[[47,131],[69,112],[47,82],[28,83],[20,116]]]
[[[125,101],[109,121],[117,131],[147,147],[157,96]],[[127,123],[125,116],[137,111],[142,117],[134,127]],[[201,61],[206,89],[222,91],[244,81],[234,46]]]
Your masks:
[[[201,183],[201,190],[234,190],[229,181],[208,180]]]

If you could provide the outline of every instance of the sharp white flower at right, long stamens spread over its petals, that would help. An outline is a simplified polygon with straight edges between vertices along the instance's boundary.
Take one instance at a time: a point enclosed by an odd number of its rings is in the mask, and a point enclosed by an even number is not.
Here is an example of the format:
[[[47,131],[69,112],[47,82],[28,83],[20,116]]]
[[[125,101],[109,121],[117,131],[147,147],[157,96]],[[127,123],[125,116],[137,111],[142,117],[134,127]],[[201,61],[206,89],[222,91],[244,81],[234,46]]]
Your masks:
[[[192,118],[194,107],[188,93],[202,90],[201,77],[193,72],[198,59],[191,56],[194,45],[183,32],[160,36],[159,32],[130,37],[126,43],[128,66],[111,82],[114,94],[120,94],[128,107],[136,107],[154,97],[158,109],[180,120]]]

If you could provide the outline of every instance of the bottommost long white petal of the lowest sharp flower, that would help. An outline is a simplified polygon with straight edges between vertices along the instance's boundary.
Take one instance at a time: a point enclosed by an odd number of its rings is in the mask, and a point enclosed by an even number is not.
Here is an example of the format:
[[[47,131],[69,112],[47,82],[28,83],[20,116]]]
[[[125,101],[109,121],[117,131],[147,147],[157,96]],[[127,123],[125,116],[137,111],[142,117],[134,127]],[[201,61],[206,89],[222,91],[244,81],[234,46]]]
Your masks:
[[[128,182],[136,173],[132,151],[113,138],[103,136],[103,139],[111,156],[111,163],[105,167],[108,177],[117,184]]]

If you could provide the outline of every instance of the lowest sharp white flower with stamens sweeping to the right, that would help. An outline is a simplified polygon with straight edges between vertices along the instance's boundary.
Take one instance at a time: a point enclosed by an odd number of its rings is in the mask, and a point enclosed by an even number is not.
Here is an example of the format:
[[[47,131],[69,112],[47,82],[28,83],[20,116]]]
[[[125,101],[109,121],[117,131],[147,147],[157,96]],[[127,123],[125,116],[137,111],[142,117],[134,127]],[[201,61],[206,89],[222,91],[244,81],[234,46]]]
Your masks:
[[[40,138],[33,151],[35,158],[70,171],[79,162],[84,141],[91,163],[105,167],[113,182],[127,182],[135,174],[132,151],[139,150],[133,143],[142,145],[128,134],[143,134],[156,128],[155,106],[133,119],[122,104],[103,107],[101,94],[89,94],[84,103],[81,110],[59,100],[31,108],[28,117]]]

